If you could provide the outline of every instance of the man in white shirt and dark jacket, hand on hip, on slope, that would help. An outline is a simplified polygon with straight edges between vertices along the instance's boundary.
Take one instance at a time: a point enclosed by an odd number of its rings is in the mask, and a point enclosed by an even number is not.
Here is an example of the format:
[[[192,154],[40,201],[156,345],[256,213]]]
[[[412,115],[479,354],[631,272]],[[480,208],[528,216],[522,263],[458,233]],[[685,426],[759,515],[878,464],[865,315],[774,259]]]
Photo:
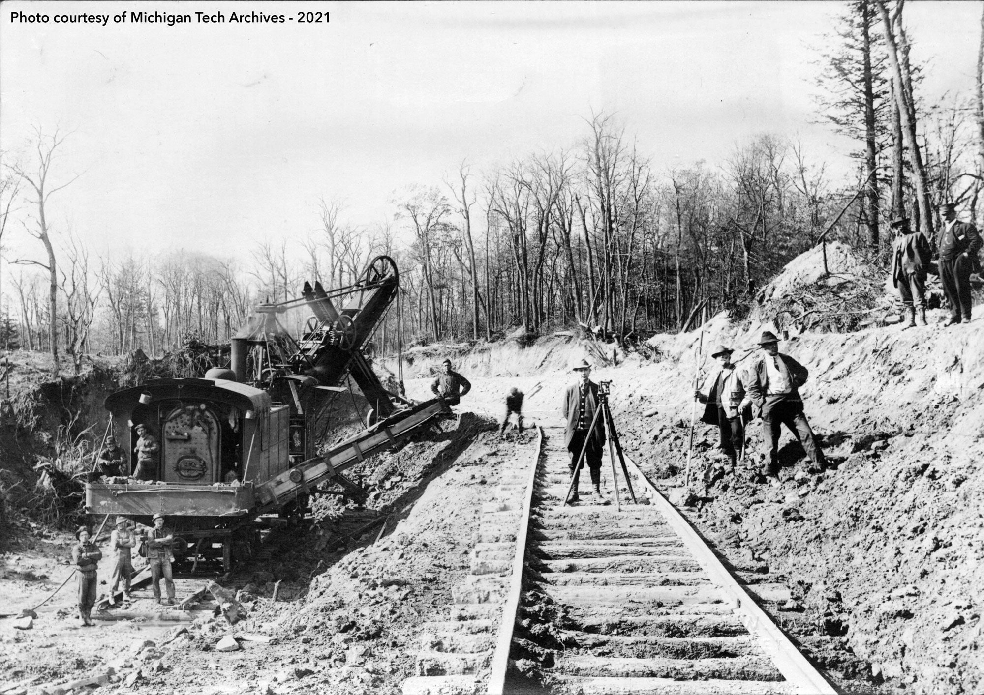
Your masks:
[[[779,339],[771,331],[763,332],[759,347],[762,353],[745,376],[747,394],[742,406],[752,402],[762,409],[762,432],[768,450],[766,476],[777,478],[779,474],[781,425],[803,444],[812,463],[811,471],[820,473],[824,469],[824,452],[803,413],[803,398],[799,393],[799,387],[806,383],[810,373],[789,355],[779,352]]]

